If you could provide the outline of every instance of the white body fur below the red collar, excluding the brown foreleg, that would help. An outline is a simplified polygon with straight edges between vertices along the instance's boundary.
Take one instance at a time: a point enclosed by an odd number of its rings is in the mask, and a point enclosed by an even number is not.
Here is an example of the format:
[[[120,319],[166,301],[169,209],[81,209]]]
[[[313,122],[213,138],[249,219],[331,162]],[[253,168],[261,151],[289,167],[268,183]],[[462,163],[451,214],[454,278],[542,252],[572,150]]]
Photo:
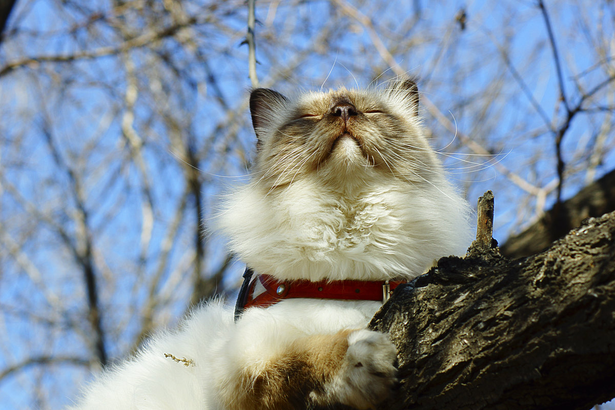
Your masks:
[[[105,371],[69,409],[223,409],[221,403],[239,395],[242,369],[265,368],[300,337],[363,328],[379,306],[289,299],[268,309],[249,309],[234,323],[231,307],[223,301],[208,302],[177,331],[157,334],[136,357]],[[194,364],[177,363],[165,353]],[[365,384],[373,383],[366,379]],[[347,396],[349,390],[345,387],[341,393]],[[332,399],[338,398],[335,388],[329,392]]]

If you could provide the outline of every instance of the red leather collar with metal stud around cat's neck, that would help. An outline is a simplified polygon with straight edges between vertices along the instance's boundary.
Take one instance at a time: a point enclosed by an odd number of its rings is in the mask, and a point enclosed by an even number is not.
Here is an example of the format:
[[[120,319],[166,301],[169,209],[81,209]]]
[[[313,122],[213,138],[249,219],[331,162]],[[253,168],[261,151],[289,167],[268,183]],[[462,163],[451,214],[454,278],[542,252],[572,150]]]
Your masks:
[[[386,302],[392,291],[406,280],[277,280],[270,275],[257,275],[250,283],[243,309],[268,307],[282,299],[314,298]],[[258,286],[258,289],[257,289]],[[255,294],[256,291],[256,294]],[[242,310],[243,310],[242,309]]]

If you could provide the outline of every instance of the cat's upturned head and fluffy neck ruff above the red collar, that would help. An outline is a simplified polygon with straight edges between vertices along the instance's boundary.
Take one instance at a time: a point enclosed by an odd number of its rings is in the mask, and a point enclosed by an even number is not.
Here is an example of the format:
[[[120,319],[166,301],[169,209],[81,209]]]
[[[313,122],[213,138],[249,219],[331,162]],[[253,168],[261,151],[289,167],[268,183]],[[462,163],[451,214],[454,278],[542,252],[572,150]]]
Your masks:
[[[464,253],[468,207],[423,136],[411,85],[265,95],[254,178],[216,221],[231,250],[257,272],[311,280],[411,278]],[[330,114],[340,100],[359,112],[346,128]]]

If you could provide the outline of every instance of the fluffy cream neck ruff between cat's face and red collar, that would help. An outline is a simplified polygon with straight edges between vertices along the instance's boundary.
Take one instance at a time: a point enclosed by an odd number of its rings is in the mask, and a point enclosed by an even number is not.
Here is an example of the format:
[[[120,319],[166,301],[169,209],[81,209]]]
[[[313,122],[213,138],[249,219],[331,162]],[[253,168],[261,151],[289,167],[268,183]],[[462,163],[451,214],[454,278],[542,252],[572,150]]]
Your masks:
[[[339,192],[307,178],[262,195],[248,185],[228,197],[215,229],[248,266],[282,280],[412,278],[471,239],[467,203],[437,186],[378,178]]]

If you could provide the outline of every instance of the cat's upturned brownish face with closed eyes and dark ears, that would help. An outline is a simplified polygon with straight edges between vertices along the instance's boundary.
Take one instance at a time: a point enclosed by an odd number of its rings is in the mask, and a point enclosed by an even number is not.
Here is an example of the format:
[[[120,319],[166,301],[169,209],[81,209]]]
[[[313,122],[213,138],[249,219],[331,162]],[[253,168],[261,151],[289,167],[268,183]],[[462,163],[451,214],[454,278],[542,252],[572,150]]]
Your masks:
[[[440,176],[423,136],[418,90],[409,80],[381,89],[312,92],[290,100],[269,89],[250,95],[259,183],[271,191],[302,178],[331,182],[387,175],[405,183]]]

